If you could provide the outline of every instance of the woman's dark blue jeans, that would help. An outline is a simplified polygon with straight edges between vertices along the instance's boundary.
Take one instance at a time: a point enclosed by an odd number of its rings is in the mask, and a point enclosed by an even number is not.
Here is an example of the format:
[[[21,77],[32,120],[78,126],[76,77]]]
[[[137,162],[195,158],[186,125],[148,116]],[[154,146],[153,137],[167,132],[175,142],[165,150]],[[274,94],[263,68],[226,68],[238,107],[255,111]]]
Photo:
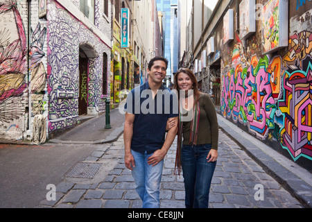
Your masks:
[[[185,187],[185,207],[208,208],[211,179],[216,162],[208,162],[211,144],[183,145],[182,171]]]

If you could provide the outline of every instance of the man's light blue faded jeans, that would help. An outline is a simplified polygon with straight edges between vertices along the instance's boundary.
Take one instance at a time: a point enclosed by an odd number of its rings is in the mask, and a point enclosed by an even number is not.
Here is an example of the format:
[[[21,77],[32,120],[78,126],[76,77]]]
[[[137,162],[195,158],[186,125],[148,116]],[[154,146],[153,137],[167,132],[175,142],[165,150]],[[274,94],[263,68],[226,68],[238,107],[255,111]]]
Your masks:
[[[135,158],[132,176],[135,179],[135,189],[143,201],[142,208],[159,208],[159,188],[164,160],[152,167],[148,165],[147,159],[153,153],[139,153],[132,150],[131,153]]]

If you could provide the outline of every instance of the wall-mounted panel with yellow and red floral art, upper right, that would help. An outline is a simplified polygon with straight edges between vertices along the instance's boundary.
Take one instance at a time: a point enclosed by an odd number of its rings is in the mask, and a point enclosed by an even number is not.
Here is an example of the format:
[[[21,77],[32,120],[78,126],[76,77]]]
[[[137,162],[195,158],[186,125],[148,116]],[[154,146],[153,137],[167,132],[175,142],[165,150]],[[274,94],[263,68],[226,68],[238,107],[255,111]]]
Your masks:
[[[288,46],[288,0],[269,0],[261,15],[262,53]]]

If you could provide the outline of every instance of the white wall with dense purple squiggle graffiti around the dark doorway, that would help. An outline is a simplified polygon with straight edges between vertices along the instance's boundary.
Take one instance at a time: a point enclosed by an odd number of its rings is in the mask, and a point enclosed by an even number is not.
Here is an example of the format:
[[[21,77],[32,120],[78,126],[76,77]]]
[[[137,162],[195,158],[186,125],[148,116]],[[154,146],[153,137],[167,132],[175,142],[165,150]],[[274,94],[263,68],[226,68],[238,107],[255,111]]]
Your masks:
[[[48,2],[49,131],[53,131],[79,122],[79,46],[81,44],[98,54],[98,57],[89,59],[87,107],[94,112],[103,111],[105,108],[101,101],[103,58],[100,55],[103,55],[103,52],[110,55],[110,48],[58,3]],[[97,17],[95,19],[98,21]],[[107,64],[107,67],[110,67],[110,64]]]

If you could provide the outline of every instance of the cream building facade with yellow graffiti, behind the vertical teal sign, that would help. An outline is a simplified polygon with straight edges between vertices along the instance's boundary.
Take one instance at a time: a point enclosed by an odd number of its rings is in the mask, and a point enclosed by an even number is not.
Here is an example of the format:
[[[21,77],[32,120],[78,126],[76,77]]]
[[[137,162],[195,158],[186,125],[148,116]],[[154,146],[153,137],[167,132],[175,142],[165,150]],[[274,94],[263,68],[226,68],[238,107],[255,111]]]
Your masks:
[[[125,31],[125,24],[121,22],[123,15],[120,14],[123,8],[128,9],[128,44],[125,46],[121,44],[121,29]],[[110,99],[114,107],[125,98],[128,90],[146,82],[148,62],[159,55],[162,37],[155,0],[113,0],[112,17]]]

